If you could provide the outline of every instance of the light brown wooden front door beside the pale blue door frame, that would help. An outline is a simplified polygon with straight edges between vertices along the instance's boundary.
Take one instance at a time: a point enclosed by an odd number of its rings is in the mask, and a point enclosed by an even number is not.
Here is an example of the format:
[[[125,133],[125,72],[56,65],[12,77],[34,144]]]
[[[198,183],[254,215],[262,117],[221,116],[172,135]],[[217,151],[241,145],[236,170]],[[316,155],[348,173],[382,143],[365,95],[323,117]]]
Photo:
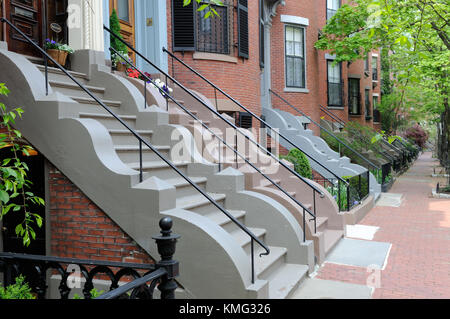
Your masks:
[[[110,14],[115,9],[120,22],[120,34],[123,40],[135,47],[134,0],[109,0]],[[135,61],[133,52],[128,55]]]

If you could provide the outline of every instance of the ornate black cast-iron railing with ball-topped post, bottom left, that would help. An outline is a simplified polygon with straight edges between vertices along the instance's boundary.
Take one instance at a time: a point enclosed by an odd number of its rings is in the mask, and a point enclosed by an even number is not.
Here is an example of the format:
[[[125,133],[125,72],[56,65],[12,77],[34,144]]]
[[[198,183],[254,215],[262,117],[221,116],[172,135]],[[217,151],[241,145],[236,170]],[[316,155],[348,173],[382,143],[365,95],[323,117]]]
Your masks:
[[[101,276],[103,283],[109,280],[109,291],[95,299],[153,299],[156,287],[161,292],[161,299],[174,299],[179,262],[173,260],[173,255],[180,236],[172,234],[172,224],[169,217],[161,219],[161,235],[153,237],[161,255],[161,261],[157,263],[121,263],[6,252],[0,253],[3,284],[9,286],[16,277],[26,274],[25,282],[37,299],[46,299],[49,296],[49,276],[56,284],[58,279],[55,275],[59,275],[60,299],[69,299],[70,294],[77,290],[81,290],[85,299],[92,299],[95,279]]]

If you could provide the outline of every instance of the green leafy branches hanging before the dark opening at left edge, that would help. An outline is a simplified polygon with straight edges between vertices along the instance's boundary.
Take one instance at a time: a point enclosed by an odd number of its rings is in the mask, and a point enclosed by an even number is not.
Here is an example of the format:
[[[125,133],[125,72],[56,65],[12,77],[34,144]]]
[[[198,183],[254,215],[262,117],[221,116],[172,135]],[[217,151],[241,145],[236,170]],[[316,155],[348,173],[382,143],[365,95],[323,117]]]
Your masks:
[[[8,88],[0,83],[0,95],[7,96]],[[15,108],[8,111],[0,103],[0,149],[10,150],[11,157],[3,159],[0,166],[0,221],[6,214],[23,213],[23,221],[16,226],[15,232],[23,239],[23,245],[28,246],[36,238],[33,224],[42,226],[42,217],[30,211],[31,204],[45,205],[42,198],[28,191],[31,182],[27,180],[28,166],[19,159],[19,154],[29,155],[33,148],[23,142],[22,134],[14,129],[15,119],[21,117],[23,110]]]

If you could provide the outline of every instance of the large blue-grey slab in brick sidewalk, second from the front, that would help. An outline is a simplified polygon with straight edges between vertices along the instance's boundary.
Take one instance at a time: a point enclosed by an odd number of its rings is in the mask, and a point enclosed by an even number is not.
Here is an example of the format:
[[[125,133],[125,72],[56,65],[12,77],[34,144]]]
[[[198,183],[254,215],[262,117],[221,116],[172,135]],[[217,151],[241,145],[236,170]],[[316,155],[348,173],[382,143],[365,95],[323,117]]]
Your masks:
[[[343,238],[325,262],[383,269],[391,248],[390,243]]]

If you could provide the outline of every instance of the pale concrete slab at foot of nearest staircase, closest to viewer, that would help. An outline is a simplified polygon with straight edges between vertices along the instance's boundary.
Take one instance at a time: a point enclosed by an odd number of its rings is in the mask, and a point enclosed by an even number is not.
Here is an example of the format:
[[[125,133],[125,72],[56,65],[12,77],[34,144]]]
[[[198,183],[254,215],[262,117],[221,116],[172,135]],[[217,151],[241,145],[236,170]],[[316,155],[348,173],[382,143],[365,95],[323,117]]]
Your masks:
[[[308,278],[291,299],[371,299],[371,295],[368,286]]]

